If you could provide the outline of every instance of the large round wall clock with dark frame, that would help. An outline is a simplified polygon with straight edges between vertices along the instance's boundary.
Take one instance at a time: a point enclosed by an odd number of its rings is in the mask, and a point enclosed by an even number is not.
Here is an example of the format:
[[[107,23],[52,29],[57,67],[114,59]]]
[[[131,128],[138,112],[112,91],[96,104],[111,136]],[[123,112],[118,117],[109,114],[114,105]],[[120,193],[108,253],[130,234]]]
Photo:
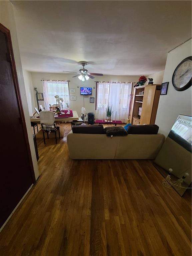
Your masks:
[[[176,67],[172,77],[175,90],[184,91],[191,86],[191,63],[192,57],[190,56],[182,60]]]

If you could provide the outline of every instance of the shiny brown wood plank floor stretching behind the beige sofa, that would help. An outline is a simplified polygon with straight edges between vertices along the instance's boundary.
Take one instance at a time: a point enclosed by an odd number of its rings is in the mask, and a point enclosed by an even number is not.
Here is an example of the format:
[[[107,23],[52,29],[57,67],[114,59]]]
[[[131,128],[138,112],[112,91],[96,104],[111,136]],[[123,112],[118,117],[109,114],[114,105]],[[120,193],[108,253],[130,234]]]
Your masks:
[[[191,195],[163,187],[151,161],[72,160],[66,137],[38,149],[41,176],[0,233],[1,256],[191,255]]]

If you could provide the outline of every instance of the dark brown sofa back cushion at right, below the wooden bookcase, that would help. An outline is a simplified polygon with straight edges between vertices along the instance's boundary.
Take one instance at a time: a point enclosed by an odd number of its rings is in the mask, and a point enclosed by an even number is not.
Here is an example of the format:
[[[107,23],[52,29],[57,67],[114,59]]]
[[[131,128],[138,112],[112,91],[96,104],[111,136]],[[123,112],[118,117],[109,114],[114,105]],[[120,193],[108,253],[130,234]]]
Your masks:
[[[157,134],[159,126],[156,124],[130,125],[127,129],[128,134]]]

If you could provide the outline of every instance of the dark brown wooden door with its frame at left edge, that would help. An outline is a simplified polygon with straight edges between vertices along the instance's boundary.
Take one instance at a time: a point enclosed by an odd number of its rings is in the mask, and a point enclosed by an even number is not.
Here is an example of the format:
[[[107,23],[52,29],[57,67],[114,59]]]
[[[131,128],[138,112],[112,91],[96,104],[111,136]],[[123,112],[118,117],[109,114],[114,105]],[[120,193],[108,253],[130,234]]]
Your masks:
[[[0,24],[0,227],[34,182],[9,36]]]

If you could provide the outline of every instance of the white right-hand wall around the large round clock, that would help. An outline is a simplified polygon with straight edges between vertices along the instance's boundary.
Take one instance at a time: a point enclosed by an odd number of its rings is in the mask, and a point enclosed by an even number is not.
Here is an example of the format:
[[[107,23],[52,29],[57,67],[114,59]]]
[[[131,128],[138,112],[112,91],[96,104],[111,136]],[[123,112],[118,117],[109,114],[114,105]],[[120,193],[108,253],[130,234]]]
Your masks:
[[[172,84],[172,75],[176,66],[186,57],[191,56],[191,40],[177,47],[167,56],[163,82],[169,82],[167,95],[161,95],[157,110],[156,124],[159,132],[169,134],[179,114],[191,116],[191,87],[185,91],[176,91]]]

